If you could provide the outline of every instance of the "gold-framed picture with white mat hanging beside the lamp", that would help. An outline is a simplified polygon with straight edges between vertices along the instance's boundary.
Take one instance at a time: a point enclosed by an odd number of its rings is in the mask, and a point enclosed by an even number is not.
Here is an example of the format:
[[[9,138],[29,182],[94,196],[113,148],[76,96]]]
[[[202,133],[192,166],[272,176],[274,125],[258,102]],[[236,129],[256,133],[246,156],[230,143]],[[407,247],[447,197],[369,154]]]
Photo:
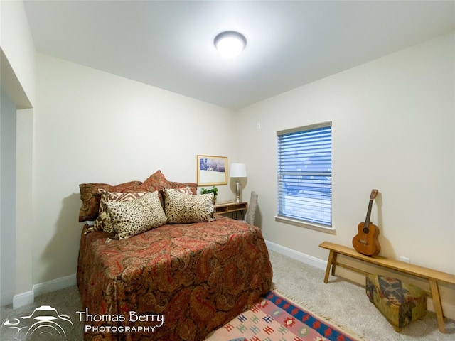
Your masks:
[[[228,185],[228,157],[198,155],[198,186]]]

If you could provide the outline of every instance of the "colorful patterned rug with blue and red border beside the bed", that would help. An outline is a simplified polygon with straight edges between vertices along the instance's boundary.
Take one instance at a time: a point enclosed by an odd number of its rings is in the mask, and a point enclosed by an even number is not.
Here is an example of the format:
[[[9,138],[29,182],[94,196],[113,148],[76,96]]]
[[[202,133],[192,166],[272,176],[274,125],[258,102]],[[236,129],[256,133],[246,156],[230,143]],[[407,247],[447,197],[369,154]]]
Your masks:
[[[212,332],[205,341],[358,341],[358,337],[270,291],[263,301]]]

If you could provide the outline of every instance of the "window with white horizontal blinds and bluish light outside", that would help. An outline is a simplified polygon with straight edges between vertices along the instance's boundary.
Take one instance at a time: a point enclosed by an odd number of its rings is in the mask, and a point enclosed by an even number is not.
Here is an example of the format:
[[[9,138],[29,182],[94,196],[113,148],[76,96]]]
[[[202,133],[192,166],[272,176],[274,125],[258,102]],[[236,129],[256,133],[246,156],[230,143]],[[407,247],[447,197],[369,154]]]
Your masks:
[[[332,229],[332,124],[277,131],[277,220]]]

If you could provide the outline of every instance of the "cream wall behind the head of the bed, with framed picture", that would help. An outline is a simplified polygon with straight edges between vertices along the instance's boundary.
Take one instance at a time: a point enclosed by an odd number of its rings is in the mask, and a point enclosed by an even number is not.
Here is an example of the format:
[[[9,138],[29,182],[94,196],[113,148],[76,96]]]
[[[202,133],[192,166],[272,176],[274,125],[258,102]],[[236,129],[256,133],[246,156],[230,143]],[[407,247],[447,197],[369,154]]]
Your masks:
[[[38,53],[33,153],[33,282],[75,274],[80,183],[196,182],[196,155],[228,156],[228,109]],[[232,200],[219,186],[219,200]]]

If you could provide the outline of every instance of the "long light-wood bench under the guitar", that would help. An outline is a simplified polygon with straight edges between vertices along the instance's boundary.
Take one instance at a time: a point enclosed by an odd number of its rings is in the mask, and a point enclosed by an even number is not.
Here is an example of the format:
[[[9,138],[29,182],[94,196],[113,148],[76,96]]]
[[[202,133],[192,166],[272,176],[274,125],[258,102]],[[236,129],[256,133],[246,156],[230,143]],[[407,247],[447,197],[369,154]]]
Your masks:
[[[445,282],[455,284],[455,275],[447,274],[446,272],[436,271],[423,266],[417,266],[414,264],[405,263],[403,261],[396,261],[394,259],[387,259],[382,256],[365,256],[360,254],[355,249],[350,247],[343,247],[343,245],[334,244],[331,242],[322,242],[319,247],[323,249],[328,249],[330,253],[328,254],[326,276],[324,277],[324,283],[328,282],[328,275],[330,274],[330,269],[332,268],[332,276],[335,276],[336,266],[341,266],[342,268],[349,269],[351,271],[358,272],[360,274],[368,274],[368,272],[354,268],[353,266],[348,266],[347,264],[342,264],[338,261],[338,254],[343,256],[348,256],[353,259],[359,259],[360,261],[366,261],[370,264],[375,264],[378,266],[384,266],[387,269],[392,269],[395,271],[400,271],[405,274],[410,274],[412,276],[417,276],[420,278],[427,279],[429,281],[429,288],[431,290],[431,295],[434,303],[434,311],[436,313],[436,318],[438,321],[438,328],[441,332],[446,332],[444,326],[444,313],[442,311],[441,296],[439,295],[439,286],[438,282]]]

